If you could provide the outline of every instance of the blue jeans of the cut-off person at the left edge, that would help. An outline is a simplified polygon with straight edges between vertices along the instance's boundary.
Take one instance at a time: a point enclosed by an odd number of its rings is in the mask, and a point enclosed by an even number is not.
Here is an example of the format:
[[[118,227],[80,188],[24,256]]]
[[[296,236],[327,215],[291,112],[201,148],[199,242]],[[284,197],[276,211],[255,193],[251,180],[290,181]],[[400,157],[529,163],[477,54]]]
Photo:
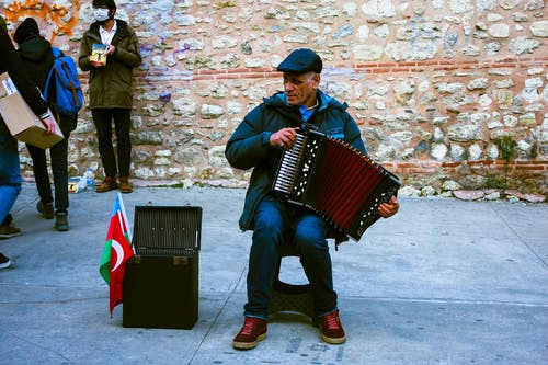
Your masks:
[[[0,117],[0,221],[3,221],[21,192],[18,141]]]

